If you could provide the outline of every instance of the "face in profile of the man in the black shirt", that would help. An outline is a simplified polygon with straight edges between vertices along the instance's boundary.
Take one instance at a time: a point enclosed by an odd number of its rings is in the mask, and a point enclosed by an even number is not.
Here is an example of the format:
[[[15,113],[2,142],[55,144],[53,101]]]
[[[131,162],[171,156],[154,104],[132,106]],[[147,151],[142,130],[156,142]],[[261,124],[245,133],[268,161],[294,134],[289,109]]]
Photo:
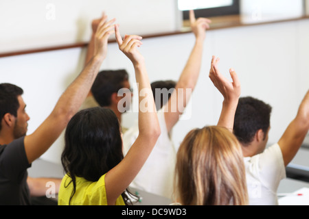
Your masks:
[[[19,109],[17,110],[17,117],[15,120],[14,125],[14,139],[21,138],[22,136],[25,136],[27,133],[27,121],[30,120],[30,117],[25,112],[25,102],[23,101],[23,98],[21,96],[18,96],[17,98],[19,100]]]

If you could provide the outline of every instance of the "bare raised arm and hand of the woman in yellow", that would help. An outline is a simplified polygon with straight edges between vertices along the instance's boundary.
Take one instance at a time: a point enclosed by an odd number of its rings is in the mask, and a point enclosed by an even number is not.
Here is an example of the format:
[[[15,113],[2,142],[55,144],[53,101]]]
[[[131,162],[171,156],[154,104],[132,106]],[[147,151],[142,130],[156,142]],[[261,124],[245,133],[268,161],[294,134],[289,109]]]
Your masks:
[[[155,108],[144,57],[137,51],[141,45],[140,36],[125,36],[124,40],[115,26],[119,49],[131,60],[135,68],[135,78],[139,88],[139,136],[126,157],[105,176],[108,205],[114,205],[117,197],[133,181],[146,162],[160,135],[159,121]],[[146,108],[147,109],[146,109]]]

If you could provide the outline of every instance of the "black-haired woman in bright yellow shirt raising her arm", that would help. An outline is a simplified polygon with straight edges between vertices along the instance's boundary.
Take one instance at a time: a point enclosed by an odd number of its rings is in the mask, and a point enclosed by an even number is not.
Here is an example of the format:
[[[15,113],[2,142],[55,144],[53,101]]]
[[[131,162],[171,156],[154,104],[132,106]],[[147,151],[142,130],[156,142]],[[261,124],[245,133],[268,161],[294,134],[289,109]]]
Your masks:
[[[60,186],[59,205],[129,205],[125,192],[150,155],[160,135],[141,37],[124,40],[115,25],[119,49],[131,60],[139,83],[139,136],[124,157],[119,120],[112,110],[93,107],[74,116],[65,133],[62,165],[67,174]],[[148,109],[141,109],[146,103]],[[150,125],[151,124],[151,125]],[[86,165],[85,165],[86,164]]]

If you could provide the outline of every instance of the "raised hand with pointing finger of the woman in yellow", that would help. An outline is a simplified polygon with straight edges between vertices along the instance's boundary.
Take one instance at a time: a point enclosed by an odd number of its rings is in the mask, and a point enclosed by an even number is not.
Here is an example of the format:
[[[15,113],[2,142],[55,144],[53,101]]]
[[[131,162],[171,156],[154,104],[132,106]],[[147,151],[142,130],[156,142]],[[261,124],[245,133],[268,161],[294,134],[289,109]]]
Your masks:
[[[134,65],[144,62],[144,57],[137,50],[137,47],[140,47],[141,44],[143,44],[140,41],[142,39],[141,36],[126,35],[124,40],[122,40],[118,25],[115,25],[115,36],[119,49],[131,60],[131,62],[133,62]]]

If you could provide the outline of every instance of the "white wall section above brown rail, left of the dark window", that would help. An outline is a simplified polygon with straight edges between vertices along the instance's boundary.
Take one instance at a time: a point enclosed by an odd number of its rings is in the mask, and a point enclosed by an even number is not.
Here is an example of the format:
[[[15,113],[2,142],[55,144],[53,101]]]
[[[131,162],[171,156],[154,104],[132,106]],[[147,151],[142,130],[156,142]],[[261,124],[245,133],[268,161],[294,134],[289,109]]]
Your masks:
[[[0,53],[88,42],[102,12],[125,34],[175,31],[176,8],[176,0],[1,0]]]

